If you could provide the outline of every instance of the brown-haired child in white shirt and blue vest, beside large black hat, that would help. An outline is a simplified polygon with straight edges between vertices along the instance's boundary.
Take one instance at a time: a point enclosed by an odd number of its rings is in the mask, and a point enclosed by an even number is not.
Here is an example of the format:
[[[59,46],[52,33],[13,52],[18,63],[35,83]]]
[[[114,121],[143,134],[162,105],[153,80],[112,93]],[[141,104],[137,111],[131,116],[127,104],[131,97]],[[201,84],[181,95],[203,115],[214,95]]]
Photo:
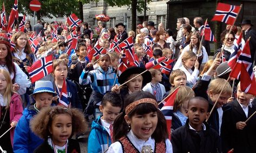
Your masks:
[[[162,74],[160,69],[149,69],[149,72],[152,75],[152,80],[145,87],[143,87],[143,91],[149,92],[155,95],[156,101],[161,102],[163,99],[163,95],[165,94],[165,86],[160,84],[162,81]]]

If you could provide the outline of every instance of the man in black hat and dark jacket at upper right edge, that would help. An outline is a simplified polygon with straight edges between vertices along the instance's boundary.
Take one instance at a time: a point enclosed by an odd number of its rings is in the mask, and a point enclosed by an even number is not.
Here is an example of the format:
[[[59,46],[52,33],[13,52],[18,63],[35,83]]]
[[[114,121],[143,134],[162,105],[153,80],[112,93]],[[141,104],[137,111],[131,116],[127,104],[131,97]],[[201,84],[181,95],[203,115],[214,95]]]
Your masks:
[[[251,37],[250,39],[250,50],[251,50],[251,57],[252,57],[252,62],[253,65],[256,64],[256,31],[253,30],[251,27],[253,24],[251,23],[251,20],[242,20],[241,27],[242,31],[245,32],[245,41],[248,40],[248,38]]]

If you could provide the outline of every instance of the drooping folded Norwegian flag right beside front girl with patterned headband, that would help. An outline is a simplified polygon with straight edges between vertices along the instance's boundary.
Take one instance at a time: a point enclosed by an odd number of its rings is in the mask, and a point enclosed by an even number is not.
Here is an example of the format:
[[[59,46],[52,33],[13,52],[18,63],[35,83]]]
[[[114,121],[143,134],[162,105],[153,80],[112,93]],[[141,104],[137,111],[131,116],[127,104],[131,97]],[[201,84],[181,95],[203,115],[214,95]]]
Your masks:
[[[178,91],[179,91],[179,88],[176,88],[171,94],[168,95],[168,97],[165,100],[159,103],[159,105],[163,105],[163,107],[160,109],[166,119],[169,140],[170,140],[170,128],[172,127],[172,114],[173,114],[172,112],[173,112],[174,100],[176,98],[176,94],[178,93]]]

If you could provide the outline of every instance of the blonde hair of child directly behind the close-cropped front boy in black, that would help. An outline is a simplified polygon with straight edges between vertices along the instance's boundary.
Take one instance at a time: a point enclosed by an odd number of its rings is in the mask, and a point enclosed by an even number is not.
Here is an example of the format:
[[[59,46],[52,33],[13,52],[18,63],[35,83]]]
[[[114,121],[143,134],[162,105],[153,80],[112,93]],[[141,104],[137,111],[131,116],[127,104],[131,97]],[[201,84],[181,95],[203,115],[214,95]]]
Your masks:
[[[194,96],[195,96],[195,93],[190,87],[181,86],[174,100],[174,106],[173,106],[174,112],[177,112],[183,106],[183,103],[185,101],[193,98]]]

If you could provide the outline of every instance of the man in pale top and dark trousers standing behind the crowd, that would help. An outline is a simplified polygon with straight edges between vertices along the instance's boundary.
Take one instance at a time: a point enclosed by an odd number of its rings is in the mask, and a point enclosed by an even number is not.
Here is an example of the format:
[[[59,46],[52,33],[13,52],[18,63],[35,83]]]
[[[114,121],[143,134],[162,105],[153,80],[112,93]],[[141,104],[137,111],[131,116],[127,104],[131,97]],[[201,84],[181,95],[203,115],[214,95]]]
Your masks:
[[[180,55],[180,45],[181,45],[181,42],[182,42],[182,38],[183,38],[183,25],[185,24],[185,19],[183,18],[178,18],[177,19],[177,27],[176,27],[176,30],[178,30],[177,32],[177,37],[176,37],[176,41],[174,42],[174,45],[175,45],[175,53],[174,53],[174,57],[175,59],[178,59],[179,58],[179,55]]]

